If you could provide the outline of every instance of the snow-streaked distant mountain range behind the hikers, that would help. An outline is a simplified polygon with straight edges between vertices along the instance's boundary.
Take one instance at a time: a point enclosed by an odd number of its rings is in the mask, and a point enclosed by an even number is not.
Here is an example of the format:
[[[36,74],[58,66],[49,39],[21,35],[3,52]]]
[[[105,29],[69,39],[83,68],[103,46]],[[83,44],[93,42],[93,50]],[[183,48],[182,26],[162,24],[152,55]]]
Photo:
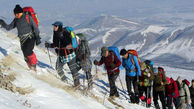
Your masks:
[[[75,28],[87,36],[94,54],[102,46],[117,46],[136,49],[143,60],[194,69],[192,25],[146,25],[101,15]]]

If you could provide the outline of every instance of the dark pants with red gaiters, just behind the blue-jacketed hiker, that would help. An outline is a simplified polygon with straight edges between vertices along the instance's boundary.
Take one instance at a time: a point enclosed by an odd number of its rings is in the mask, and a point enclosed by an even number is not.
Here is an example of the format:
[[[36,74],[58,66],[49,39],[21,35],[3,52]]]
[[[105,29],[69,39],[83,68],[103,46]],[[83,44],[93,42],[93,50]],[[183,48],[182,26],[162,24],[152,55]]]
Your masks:
[[[151,106],[151,86],[139,86],[139,97],[142,101],[145,101],[146,104]],[[146,96],[143,95],[145,93]]]

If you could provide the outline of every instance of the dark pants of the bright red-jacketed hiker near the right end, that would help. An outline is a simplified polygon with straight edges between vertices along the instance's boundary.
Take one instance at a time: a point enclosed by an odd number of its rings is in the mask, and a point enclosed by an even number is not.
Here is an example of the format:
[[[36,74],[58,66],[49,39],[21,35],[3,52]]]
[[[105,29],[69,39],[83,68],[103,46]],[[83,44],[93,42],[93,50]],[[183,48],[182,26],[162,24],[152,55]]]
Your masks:
[[[167,97],[167,107],[168,109],[173,109],[173,104],[175,105],[176,109],[180,106],[179,98]]]

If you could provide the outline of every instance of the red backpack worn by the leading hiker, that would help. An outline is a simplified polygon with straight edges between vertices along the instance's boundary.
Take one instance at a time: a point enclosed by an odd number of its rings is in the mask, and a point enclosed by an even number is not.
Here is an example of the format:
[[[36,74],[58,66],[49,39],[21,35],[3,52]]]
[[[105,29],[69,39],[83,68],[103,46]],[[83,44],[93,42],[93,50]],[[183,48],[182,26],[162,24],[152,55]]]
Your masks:
[[[23,12],[26,14],[26,19],[27,19],[28,23],[30,23],[29,16],[31,16],[32,19],[34,20],[34,22],[36,23],[37,27],[38,27],[39,20],[37,18],[36,13],[34,12],[34,9],[32,7],[24,7]]]

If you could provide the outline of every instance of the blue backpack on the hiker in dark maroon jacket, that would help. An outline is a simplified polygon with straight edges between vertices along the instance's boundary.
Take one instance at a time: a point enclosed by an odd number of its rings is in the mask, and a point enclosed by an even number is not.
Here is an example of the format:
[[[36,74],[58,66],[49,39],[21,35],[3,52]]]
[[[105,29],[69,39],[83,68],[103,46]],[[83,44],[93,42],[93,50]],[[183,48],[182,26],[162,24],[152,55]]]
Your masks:
[[[120,53],[119,53],[119,49],[115,46],[110,46],[108,47],[109,51],[112,51],[113,53],[116,54],[116,56],[118,57],[118,59],[121,61],[121,57],[120,57]],[[114,61],[114,57],[113,57],[113,61]],[[122,62],[122,61],[121,61]],[[124,67],[122,66],[122,64],[119,67],[120,70],[124,69]]]

